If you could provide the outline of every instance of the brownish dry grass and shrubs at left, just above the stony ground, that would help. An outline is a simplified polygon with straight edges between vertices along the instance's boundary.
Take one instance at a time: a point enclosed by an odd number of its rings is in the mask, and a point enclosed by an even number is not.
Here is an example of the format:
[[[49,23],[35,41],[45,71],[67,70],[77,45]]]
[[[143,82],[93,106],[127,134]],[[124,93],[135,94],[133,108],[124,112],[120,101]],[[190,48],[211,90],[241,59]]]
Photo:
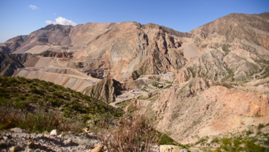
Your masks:
[[[0,106],[0,117],[0,129],[19,127],[40,133],[52,129],[79,132],[83,127],[82,121],[66,120],[59,111],[54,111],[46,105],[37,105],[33,111],[25,111],[13,106]]]

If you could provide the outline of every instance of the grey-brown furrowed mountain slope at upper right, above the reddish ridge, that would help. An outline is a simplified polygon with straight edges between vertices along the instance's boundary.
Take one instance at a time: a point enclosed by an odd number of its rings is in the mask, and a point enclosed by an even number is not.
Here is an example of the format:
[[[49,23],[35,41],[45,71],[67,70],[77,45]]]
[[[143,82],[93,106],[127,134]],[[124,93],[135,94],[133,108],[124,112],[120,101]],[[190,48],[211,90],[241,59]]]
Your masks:
[[[260,62],[269,60],[268,17],[268,12],[230,14],[190,31],[192,43],[202,53],[178,71],[178,81],[196,75],[241,79],[263,70],[265,64]]]

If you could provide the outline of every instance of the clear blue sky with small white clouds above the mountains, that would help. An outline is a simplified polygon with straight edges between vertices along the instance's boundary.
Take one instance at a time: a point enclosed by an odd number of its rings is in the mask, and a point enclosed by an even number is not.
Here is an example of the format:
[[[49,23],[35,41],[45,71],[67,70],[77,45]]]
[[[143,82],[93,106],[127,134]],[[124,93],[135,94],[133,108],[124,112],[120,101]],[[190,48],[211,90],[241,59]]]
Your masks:
[[[269,12],[269,0],[0,0],[0,43],[50,23],[137,21],[189,32],[233,12]]]

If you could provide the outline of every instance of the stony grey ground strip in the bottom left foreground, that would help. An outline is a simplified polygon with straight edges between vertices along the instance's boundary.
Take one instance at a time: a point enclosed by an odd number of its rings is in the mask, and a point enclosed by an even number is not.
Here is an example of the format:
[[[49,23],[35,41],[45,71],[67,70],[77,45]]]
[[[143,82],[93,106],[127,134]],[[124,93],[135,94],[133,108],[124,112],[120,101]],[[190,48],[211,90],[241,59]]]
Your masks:
[[[100,144],[91,133],[28,133],[14,128],[0,134],[1,151],[92,151]]]

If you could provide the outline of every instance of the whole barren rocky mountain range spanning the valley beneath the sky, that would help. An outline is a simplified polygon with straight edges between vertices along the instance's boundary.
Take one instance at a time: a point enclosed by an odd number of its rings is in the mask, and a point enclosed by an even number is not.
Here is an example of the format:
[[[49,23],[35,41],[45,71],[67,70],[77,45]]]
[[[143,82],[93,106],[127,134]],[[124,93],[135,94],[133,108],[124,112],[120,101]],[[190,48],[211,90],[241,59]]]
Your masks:
[[[0,48],[34,55],[13,77],[147,114],[193,144],[269,121],[268,27],[268,12],[233,13],[188,33],[137,22],[50,25]]]

